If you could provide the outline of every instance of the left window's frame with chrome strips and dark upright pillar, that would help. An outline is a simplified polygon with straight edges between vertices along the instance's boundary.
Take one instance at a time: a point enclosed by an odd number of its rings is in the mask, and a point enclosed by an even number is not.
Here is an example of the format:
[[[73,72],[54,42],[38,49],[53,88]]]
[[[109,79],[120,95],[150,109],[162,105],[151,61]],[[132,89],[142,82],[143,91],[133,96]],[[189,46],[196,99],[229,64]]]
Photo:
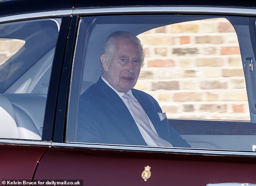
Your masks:
[[[72,10],[56,10],[56,11],[46,11],[46,12],[34,12],[34,13],[25,13],[18,15],[10,15],[6,17],[0,17],[0,24],[18,22],[18,21],[33,21],[40,19],[59,19],[61,18],[61,27],[59,30],[59,35],[57,38],[56,49],[54,58],[52,61],[52,66],[59,66],[59,69],[62,67],[62,56],[65,54],[65,42],[67,40],[67,35],[65,33],[69,30],[69,19],[71,16]],[[64,45],[63,45],[64,43]],[[60,46],[63,46],[61,49]],[[60,59],[60,60],[59,60]],[[59,77],[60,71],[55,72],[53,69],[58,69],[58,67],[52,68],[52,73],[50,76],[50,87],[59,87]],[[52,75],[54,74],[54,75]],[[26,140],[26,139],[8,139],[1,138],[0,144],[8,145],[32,145],[32,146],[50,146],[53,136],[53,126],[54,126],[54,117],[55,117],[55,107],[57,105],[55,97],[57,97],[58,92],[54,88],[49,88],[48,97],[46,100],[46,110],[44,113],[44,124],[42,132],[42,140]],[[45,119],[47,118],[47,120]]]

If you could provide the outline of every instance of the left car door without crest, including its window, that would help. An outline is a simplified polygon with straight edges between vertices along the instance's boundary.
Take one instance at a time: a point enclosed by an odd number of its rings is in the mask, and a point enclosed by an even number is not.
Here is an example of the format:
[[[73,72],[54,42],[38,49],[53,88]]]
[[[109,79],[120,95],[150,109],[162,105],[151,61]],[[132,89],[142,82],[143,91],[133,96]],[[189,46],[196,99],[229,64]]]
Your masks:
[[[10,13],[0,17],[2,185],[15,184],[13,180],[21,184],[22,180],[31,181],[40,158],[50,147],[51,115],[59,83],[59,72],[52,66],[58,69],[62,63],[70,10],[55,12],[56,16],[52,11]]]

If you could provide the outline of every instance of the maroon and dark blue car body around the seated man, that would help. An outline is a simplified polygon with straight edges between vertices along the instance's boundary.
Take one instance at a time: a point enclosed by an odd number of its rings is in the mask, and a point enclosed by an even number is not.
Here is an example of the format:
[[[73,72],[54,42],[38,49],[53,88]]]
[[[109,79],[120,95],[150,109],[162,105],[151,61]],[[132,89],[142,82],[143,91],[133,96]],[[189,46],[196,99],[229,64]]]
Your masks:
[[[17,49],[13,56],[2,64],[0,61],[0,94],[4,97],[0,97],[0,117],[7,117],[8,112],[18,128],[18,136],[17,132],[9,135],[14,129],[6,126],[13,121],[0,120],[0,130],[6,134],[0,136],[2,185],[12,180],[37,184],[48,180],[80,180],[83,185],[256,184],[256,153],[252,146],[256,145],[256,89],[252,70],[256,9],[253,6],[253,2],[217,1],[127,4],[82,0],[1,1],[0,46],[7,39],[25,41],[24,47]],[[89,56],[85,61],[90,61],[100,54],[101,49],[97,49],[102,44],[98,43],[100,37],[103,39],[120,28],[139,35],[163,25],[222,17],[230,21],[238,36],[250,120],[169,118],[169,123],[192,148],[76,142],[76,106],[78,90],[82,87],[76,83],[82,81],[82,75],[77,74],[87,68],[86,62],[84,67],[78,61],[84,60],[84,56]],[[91,25],[96,26],[90,28]],[[35,62],[29,64],[28,59]],[[47,64],[38,67],[42,61]],[[18,71],[10,70],[16,68]],[[89,65],[87,72],[97,74],[93,69],[94,65]],[[33,72],[46,75],[33,75]],[[36,83],[29,84],[31,81]],[[91,81],[90,77],[87,81]],[[27,132],[31,123],[35,124],[33,135]],[[210,146],[204,147],[205,144]],[[151,167],[151,176],[144,180],[142,173],[147,165]]]

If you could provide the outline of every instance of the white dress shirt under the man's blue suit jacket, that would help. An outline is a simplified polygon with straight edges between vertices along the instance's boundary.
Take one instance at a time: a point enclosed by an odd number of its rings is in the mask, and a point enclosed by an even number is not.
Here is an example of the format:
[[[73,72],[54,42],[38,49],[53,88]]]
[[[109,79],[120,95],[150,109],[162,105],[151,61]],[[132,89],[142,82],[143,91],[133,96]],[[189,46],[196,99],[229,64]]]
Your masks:
[[[115,91],[115,93],[117,93],[117,94],[119,95],[119,97],[124,101],[124,104],[126,105],[126,107],[128,108],[130,114],[132,115],[132,118],[134,119],[134,115],[133,115],[133,113],[132,113],[132,110],[130,109],[130,106],[128,105],[128,100],[123,97],[124,93],[121,93],[121,92],[116,91],[102,76],[101,76],[101,79],[102,79],[111,89],[113,89],[113,90]],[[132,91],[131,91],[131,90],[128,91],[127,93],[128,93],[133,99],[135,99],[135,100],[137,101],[137,99],[132,95]],[[148,117],[148,116],[147,116],[147,117]],[[148,119],[149,119],[149,117],[148,117]],[[158,146],[158,145],[155,143],[155,141],[153,141],[153,140],[151,139],[151,137],[149,136],[149,134],[147,134],[147,132],[136,122],[135,119],[134,119],[134,121],[135,121],[136,125],[138,126],[138,129],[140,130],[141,135],[143,136],[143,138],[144,138],[145,142],[147,143],[147,145],[149,145],[149,146]],[[155,127],[153,126],[153,124],[152,124],[152,122],[150,121],[150,119],[149,119],[149,123],[150,123],[150,126],[151,126],[152,130],[157,134],[157,132],[156,132],[156,130],[155,130]],[[157,135],[158,135],[158,134],[157,134]]]

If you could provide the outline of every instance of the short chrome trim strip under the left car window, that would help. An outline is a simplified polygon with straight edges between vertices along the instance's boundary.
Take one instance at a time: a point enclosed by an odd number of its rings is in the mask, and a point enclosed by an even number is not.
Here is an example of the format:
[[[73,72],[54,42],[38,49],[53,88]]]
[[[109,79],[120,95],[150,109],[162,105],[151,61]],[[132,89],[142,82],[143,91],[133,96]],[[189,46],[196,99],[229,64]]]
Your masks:
[[[0,139],[0,145],[26,145],[26,146],[43,146],[51,147],[52,142],[48,141],[30,141],[17,139]],[[1,146],[0,146],[1,147]]]

